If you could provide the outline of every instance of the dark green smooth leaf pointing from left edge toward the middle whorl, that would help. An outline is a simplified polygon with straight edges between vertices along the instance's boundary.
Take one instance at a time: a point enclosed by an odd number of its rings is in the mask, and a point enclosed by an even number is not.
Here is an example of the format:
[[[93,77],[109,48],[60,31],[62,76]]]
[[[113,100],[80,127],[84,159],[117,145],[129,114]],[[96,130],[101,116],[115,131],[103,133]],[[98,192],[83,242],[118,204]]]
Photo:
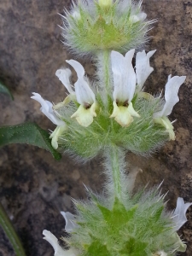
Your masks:
[[[36,124],[25,123],[0,127],[0,147],[12,143],[26,143],[44,148],[53,155],[55,160],[61,160],[61,154],[51,146],[49,133]]]

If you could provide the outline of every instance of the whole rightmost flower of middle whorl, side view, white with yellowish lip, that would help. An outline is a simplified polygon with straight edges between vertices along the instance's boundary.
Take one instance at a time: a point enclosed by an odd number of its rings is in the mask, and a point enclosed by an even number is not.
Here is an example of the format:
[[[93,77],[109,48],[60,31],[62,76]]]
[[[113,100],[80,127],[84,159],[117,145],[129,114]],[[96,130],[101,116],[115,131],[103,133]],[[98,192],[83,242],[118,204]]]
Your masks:
[[[179,98],[177,96],[178,90],[184,83],[185,79],[185,76],[176,76],[172,78],[172,75],[169,75],[165,90],[166,103],[164,104],[162,110],[154,113],[154,123],[163,125],[166,128],[166,131],[169,133],[170,140],[175,140],[175,133],[173,131],[172,123],[167,116],[172,113],[172,108],[177,102],[179,102]]]

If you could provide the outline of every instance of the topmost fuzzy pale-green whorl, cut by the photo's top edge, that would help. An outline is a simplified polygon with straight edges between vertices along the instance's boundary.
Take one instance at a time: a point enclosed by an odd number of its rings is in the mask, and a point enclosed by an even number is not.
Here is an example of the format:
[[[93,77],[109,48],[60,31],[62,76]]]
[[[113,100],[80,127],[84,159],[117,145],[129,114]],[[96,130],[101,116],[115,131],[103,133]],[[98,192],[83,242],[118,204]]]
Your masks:
[[[100,1],[102,2],[102,1]],[[82,55],[103,49],[126,52],[143,45],[151,22],[141,12],[141,3],[79,1],[63,19],[64,43]]]

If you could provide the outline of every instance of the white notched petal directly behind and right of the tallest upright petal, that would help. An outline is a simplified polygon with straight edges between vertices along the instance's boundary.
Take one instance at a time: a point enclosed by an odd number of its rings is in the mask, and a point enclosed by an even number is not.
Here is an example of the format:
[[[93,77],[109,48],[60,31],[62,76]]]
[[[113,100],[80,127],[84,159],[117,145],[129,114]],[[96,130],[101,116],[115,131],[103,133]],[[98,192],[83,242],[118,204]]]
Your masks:
[[[137,74],[137,90],[142,90],[143,84],[148,79],[150,73],[154,71],[153,67],[150,67],[149,58],[154,55],[156,49],[151,50],[146,55],[145,50],[138,52],[136,55],[136,74]]]

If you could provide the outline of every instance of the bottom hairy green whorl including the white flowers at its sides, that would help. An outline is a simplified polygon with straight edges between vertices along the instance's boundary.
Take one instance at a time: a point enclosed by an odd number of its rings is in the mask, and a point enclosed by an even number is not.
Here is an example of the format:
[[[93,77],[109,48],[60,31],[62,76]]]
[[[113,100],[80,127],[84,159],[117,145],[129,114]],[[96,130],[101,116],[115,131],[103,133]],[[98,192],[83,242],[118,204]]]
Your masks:
[[[178,197],[176,209],[168,214],[162,202],[164,196],[153,195],[154,192],[157,193],[154,189],[137,201],[133,198],[135,205],[131,205],[131,201],[124,205],[116,201],[112,208],[104,206],[96,196],[89,205],[76,202],[78,215],[61,212],[66,221],[65,230],[71,234],[71,238],[63,239],[70,248],[63,249],[48,230],[43,231],[44,239],[54,247],[55,256],[113,255],[113,251],[115,255],[168,256],[176,251],[184,252],[186,245],[177,236],[177,230],[187,221],[185,214],[192,203],[184,203],[183,198]],[[151,233],[153,237],[148,239]],[[167,240],[161,247],[163,236]]]

